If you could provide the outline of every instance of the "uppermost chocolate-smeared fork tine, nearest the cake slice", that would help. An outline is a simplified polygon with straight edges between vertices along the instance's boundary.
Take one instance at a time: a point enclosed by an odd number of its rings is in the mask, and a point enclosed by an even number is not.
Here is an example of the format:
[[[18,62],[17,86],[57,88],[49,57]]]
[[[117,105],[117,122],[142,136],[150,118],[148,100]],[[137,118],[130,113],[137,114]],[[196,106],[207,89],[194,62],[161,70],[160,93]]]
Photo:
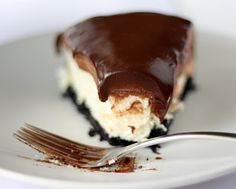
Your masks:
[[[86,152],[89,154],[96,154],[96,156],[98,155],[98,153],[102,153],[106,150],[106,148],[94,148],[92,146],[89,145],[84,145],[81,143],[76,143],[74,141],[71,141],[69,139],[63,138],[61,136],[52,134],[50,132],[44,131],[42,129],[39,129],[37,127],[34,127],[32,125],[27,124],[26,128],[28,128],[29,130],[33,131],[35,134],[37,135],[41,135],[43,137],[47,136],[50,137],[50,140],[55,141],[56,143],[61,144],[62,146],[66,146],[68,149],[73,148],[74,150],[80,150],[81,152]]]

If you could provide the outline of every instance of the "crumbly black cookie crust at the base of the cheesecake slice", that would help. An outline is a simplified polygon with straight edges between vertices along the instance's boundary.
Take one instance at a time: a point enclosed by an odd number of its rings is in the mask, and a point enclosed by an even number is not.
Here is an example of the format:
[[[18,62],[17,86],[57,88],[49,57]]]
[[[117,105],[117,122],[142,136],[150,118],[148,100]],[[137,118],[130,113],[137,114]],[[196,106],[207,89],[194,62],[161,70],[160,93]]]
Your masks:
[[[195,89],[195,85],[193,83],[193,79],[188,78],[187,83],[184,88],[184,92],[181,96],[181,100],[185,99],[187,94],[194,89]],[[75,104],[77,110],[80,113],[82,113],[84,115],[84,117],[92,125],[92,128],[90,129],[90,131],[88,133],[89,136],[92,137],[92,136],[95,136],[98,134],[100,136],[101,141],[106,140],[112,146],[127,146],[129,144],[134,143],[133,141],[123,140],[120,137],[109,137],[108,134],[105,132],[105,130],[100,126],[100,124],[93,118],[93,116],[90,113],[90,110],[86,107],[86,105],[84,103],[78,104],[76,102],[76,94],[75,94],[72,87],[68,87],[63,96],[70,98],[72,100],[72,102]],[[164,132],[162,129],[155,128],[151,131],[148,138],[153,138],[153,137],[167,134],[172,122],[173,122],[173,119],[172,120],[164,120],[163,125],[165,125],[165,127],[167,128],[167,131]]]

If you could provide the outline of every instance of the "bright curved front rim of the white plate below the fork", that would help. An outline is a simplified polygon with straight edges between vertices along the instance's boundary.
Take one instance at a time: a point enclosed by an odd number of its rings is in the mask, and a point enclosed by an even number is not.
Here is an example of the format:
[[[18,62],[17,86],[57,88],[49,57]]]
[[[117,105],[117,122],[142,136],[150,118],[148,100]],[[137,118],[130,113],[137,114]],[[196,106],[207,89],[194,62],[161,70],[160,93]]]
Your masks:
[[[0,176],[7,177],[18,182],[24,182],[34,186],[49,187],[49,188],[128,188],[128,187],[155,187],[155,188],[172,188],[172,187],[183,187],[192,184],[202,183],[205,181],[210,181],[221,176],[228,175],[236,171],[236,161],[231,162],[227,166],[219,166],[216,169],[201,171],[193,173],[191,175],[180,176],[175,178],[168,178],[167,180],[156,181],[155,179],[150,179],[147,181],[111,181],[111,182],[88,182],[88,181],[69,181],[69,180],[60,180],[55,178],[46,178],[43,176],[34,176],[27,173],[22,173],[19,171],[12,171],[6,168],[0,167]],[[129,173],[108,173],[108,174],[129,174]],[[115,186],[115,187],[114,187]]]

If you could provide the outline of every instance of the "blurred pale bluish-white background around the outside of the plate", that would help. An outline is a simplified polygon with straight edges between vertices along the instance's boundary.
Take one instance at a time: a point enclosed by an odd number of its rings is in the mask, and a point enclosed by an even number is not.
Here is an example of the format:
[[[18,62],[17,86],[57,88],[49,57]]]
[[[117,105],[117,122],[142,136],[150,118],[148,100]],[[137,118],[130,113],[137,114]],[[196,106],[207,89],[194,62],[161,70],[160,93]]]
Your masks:
[[[163,11],[190,18],[197,30],[213,31],[236,39],[234,0],[0,0],[0,44],[22,37],[59,31],[83,18],[131,10]],[[0,188],[35,188],[0,178]],[[236,173],[185,187],[234,189]]]

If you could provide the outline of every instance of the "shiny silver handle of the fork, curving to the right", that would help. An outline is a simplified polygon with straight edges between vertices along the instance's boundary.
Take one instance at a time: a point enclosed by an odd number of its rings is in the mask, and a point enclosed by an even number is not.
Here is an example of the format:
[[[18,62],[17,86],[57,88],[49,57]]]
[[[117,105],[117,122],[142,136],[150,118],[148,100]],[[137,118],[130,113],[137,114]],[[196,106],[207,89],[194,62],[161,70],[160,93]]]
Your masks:
[[[214,140],[225,140],[225,141],[236,142],[236,133],[200,131],[200,132],[182,132],[182,133],[163,135],[129,145],[124,148],[124,151],[121,154],[123,156],[148,146],[153,146],[165,142],[183,140],[183,139],[214,139]]]

